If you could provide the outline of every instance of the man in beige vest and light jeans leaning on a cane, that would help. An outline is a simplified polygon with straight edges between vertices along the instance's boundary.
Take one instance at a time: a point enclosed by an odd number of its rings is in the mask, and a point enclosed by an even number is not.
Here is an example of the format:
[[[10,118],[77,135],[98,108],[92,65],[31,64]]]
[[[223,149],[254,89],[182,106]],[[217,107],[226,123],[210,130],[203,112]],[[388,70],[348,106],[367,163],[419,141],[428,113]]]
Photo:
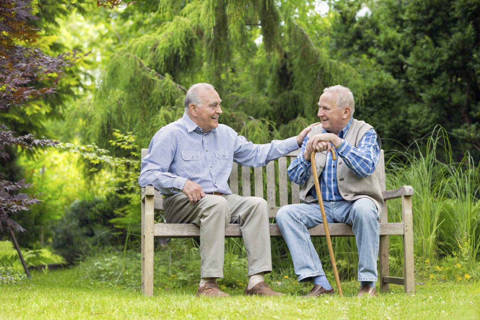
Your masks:
[[[321,124],[314,126],[305,137],[299,156],[288,167],[289,179],[303,185],[300,190],[302,203],[282,207],[276,222],[287,242],[298,281],[313,281],[313,288],[306,296],[332,295],[334,290],[307,230],[322,223],[310,162],[311,153],[316,150],[327,221],[352,226],[359,254],[358,296],[376,296],[378,220],[384,206],[375,174],[380,137],[370,124],[352,117],[355,101],[347,87],[325,88],[318,108]],[[335,161],[329,152],[331,148],[336,149]]]

